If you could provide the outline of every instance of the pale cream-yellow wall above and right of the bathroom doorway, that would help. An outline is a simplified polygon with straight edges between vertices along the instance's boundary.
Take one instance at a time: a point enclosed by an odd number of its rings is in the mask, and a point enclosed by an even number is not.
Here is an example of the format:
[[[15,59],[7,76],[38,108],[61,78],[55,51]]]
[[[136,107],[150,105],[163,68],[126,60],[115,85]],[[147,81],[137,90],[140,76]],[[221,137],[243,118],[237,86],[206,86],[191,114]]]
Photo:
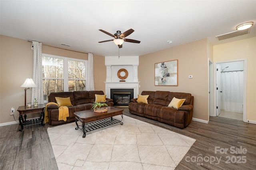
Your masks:
[[[213,47],[214,62],[247,58],[247,120],[256,121],[256,37]]]

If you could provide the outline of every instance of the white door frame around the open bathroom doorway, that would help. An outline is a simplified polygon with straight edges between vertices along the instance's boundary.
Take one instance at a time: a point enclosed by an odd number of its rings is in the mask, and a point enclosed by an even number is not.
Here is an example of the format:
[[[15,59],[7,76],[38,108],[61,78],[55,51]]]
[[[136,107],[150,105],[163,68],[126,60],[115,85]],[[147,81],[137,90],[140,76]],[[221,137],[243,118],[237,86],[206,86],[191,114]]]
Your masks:
[[[246,101],[246,96],[247,96],[247,58],[242,58],[242,59],[237,59],[237,60],[229,60],[229,61],[223,61],[223,62],[216,62],[214,63],[214,112],[213,116],[217,116],[217,86],[216,86],[216,78],[217,78],[217,71],[216,71],[216,66],[217,64],[220,63],[226,63],[226,62],[236,62],[236,61],[243,61],[244,62],[244,96],[243,96],[243,121],[247,122],[247,101]]]

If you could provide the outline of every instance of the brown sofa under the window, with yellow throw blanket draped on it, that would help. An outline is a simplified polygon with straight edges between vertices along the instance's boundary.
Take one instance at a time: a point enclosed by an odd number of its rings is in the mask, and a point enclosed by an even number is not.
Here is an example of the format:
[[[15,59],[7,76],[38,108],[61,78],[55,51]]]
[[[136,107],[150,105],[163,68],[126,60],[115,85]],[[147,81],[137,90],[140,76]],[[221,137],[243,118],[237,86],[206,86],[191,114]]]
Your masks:
[[[104,95],[103,91],[74,91],[74,92],[52,92],[48,96],[48,102],[55,102],[55,97],[68,98],[70,97],[71,104],[73,106],[68,106],[69,117],[67,117],[66,122],[63,120],[58,120],[59,110],[58,106],[55,104],[50,104],[47,106],[49,124],[58,125],[67,122],[73,122],[76,120],[74,112],[82,110],[90,110],[92,104],[95,102],[95,94]],[[108,106],[114,106],[114,102],[110,98],[106,98]]]

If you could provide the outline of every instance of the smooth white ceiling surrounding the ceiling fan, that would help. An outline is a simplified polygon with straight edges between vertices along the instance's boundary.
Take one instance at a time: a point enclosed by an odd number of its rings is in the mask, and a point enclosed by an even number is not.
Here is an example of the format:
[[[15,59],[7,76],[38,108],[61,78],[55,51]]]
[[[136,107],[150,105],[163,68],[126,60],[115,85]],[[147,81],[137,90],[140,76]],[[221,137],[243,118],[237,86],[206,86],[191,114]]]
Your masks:
[[[216,40],[249,21],[254,22],[250,34]],[[0,34],[45,45],[118,56],[114,42],[98,43],[113,39],[99,29],[114,34],[130,28],[135,31],[126,38],[141,42],[124,42],[120,56],[140,56],[204,38],[213,45],[241,40],[256,36],[256,0],[0,0]]]

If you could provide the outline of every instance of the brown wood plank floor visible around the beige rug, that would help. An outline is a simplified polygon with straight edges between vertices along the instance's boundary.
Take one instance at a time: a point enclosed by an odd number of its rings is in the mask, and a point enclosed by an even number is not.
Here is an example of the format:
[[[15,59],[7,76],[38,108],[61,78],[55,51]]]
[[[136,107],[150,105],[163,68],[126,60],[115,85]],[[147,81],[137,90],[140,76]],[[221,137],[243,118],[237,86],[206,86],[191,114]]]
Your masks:
[[[155,124],[179,134],[196,139],[176,170],[255,170],[256,167],[256,124],[221,117],[210,117],[209,124],[192,121],[185,129],[130,114],[124,114]],[[19,125],[0,127],[1,170],[58,170],[46,126],[33,125],[18,131]],[[227,148],[227,153],[215,154],[215,147]],[[245,148],[245,153],[230,153],[232,148]],[[231,149],[231,150],[230,150]],[[243,157],[242,157],[243,156]],[[246,157],[244,157],[246,156]],[[203,158],[200,162],[199,158]],[[228,158],[230,157],[230,161]],[[212,159],[210,162],[209,159]],[[215,161],[213,161],[215,158]],[[240,160],[243,158],[243,161]],[[218,161],[216,160],[220,160]],[[198,161],[197,161],[198,160]],[[238,161],[238,163],[232,163]],[[227,163],[226,161],[230,162]],[[246,163],[242,163],[245,162]]]

